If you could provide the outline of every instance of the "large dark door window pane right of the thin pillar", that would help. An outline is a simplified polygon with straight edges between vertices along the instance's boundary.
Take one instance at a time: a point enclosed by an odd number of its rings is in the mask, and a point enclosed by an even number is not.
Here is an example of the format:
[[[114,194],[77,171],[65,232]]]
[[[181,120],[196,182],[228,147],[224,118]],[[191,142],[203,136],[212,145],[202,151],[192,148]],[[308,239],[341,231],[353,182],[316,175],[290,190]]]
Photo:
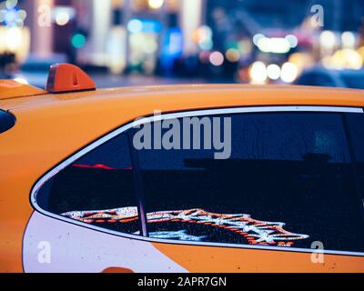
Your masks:
[[[301,248],[319,241],[331,250],[364,249],[341,115],[229,117],[227,160],[214,159],[214,150],[138,152],[150,236]]]

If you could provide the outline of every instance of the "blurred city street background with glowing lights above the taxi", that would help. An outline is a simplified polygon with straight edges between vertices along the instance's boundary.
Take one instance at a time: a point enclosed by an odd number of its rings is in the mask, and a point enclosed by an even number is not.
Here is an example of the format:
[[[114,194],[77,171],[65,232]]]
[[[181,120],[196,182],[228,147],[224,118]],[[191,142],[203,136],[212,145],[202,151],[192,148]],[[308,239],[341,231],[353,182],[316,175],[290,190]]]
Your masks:
[[[364,88],[363,60],[363,0],[0,1],[0,77],[39,87],[68,62],[98,87]]]

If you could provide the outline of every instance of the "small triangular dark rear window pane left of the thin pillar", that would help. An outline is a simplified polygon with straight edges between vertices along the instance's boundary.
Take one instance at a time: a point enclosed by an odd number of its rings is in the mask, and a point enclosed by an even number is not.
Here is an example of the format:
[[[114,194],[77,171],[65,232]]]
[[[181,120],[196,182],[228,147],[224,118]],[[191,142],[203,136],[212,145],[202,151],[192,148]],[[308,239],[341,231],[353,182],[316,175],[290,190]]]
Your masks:
[[[117,136],[56,174],[40,189],[37,202],[57,215],[138,234],[127,136]]]

